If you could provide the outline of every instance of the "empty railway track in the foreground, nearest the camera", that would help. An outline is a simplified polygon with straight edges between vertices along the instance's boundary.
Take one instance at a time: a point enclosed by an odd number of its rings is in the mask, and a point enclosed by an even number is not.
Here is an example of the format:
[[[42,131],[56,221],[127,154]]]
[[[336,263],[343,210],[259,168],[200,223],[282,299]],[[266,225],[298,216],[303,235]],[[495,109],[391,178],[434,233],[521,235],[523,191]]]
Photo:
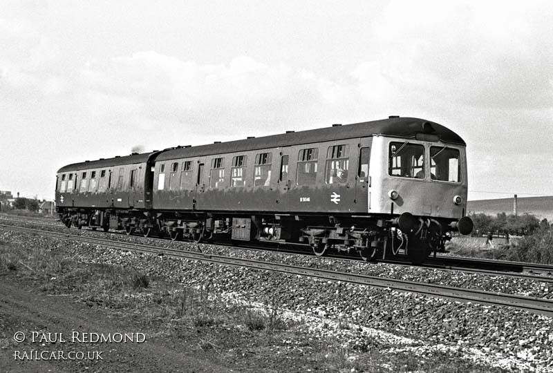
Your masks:
[[[281,272],[285,274],[309,276],[312,278],[319,278],[321,280],[342,281],[345,283],[352,283],[357,285],[367,285],[383,289],[393,289],[396,291],[413,292],[416,294],[422,294],[435,298],[448,298],[465,303],[479,303],[483,305],[512,307],[538,314],[544,314],[550,317],[553,316],[553,300],[541,298],[531,298],[527,296],[518,296],[513,294],[500,294],[475,289],[462,289],[459,287],[448,287],[444,285],[416,283],[413,281],[381,278],[377,276],[366,276],[362,274],[349,274],[346,272],[329,271],[326,269],[313,269],[294,265],[285,265],[281,263],[265,262],[261,260],[232,258],[228,256],[203,254],[200,252],[182,251],[178,249],[168,249],[165,247],[142,245],[131,242],[119,242],[106,240],[104,238],[75,235],[71,233],[42,231],[40,229],[15,227],[5,224],[0,225],[1,227],[3,227],[3,229],[8,229],[11,231],[39,234],[41,236],[69,240],[72,242],[86,242],[92,245],[101,245],[113,249],[139,251],[148,254],[171,256],[174,258],[185,258],[190,260],[200,260],[203,262],[212,262],[219,265],[232,265],[236,267],[247,267],[252,269]]]

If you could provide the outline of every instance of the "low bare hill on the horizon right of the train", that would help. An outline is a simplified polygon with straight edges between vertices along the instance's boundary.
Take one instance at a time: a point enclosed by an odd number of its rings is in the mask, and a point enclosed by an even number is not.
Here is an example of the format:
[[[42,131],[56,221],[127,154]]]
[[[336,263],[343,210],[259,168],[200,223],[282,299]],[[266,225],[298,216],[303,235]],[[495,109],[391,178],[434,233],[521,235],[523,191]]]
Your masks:
[[[476,200],[467,202],[469,213],[485,213],[496,216],[498,213],[513,213],[514,198],[500,198],[498,200]],[[553,196],[551,197],[518,197],[518,215],[529,213],[538,219],[547,218],[553,222]]]

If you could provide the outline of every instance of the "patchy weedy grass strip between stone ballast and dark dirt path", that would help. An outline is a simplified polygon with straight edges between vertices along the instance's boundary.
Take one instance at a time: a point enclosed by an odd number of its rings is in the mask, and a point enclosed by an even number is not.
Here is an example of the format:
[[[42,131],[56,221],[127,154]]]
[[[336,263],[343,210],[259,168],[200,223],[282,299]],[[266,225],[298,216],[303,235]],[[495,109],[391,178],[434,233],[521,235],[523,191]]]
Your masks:
[[[377,340],[345,349],[338,338],[319,338],[305,332],[301,321],[285,320],[274,296],[253,308],[214,294],[209,278],[197,288],[184,287],[137,269],[79,262],[46,240],[42,246],[0,241],[0,275],[129,318],[151,335],[241,370],[501,372],[438,351],[420,356],[394,350]]]

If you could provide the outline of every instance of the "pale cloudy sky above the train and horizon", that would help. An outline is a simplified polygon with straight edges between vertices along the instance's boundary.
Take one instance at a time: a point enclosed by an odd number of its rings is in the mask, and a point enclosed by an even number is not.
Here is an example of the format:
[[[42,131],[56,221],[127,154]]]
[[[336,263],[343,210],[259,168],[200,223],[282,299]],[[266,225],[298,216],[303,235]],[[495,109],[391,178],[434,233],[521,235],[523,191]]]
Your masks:
[[[443,124],[469,200],[553,195],[551,1],[0,0],[0,190],[74,162],[357,123]]]

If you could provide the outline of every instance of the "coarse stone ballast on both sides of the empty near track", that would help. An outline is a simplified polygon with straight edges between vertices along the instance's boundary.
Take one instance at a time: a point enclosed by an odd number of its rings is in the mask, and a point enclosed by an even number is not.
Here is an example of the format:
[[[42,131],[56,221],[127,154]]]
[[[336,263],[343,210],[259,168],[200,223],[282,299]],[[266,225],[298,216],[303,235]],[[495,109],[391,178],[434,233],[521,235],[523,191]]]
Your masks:
[[[82,234],[90,232],[83,231]],[[139,240],[160,245],[159,240],[111,236],[118,240]],[[389,289],[374,289],[304,276],[136,254],[9,231],[3,232],[0,239],[19,241],[26,245],[49,245],[53,250],[67,251],[69,255],[84,262],[133,267],[149,276],[165,276],[191,287],[205,286],[209,282],[216,294],[227,296],[232,301],[259,305],[268,298],[268,294],[272,294],[271,296],[278,300],[283,315],[300,319],[305,325],[306,332],[312,333],[315,338],[329,334],[337,336],[347,347],[359,347],[362,350],[374,338],[383,338],[390,344],[391,352],[393,349],[410,349],[414,353],[423,354],[425,349],[438,348],[458,352],[465,358],[495,366],[553,372],[552,319],[545,316],[507,307],[456,303]],[[201,244],[163,242],[163,246],[201,249],[211,254],[231,253],[233,256],[258,260],[278,258],[279,262],[294,265],[361,271],[373,276],[432,283],[443,281],[444,285],[449,286],[469,284],[473,288],[491,291],[522,291],[527,286],[527,291],[533,291],[532,296],[550,295],[549,289],[541,283],[518,278],[462,273],[453,276],[452,272],[429,269],[367,265],[257,251],[234,251]],[[444,272],[444,275],[438,272]],[[433,277],[429,276],[433,273]]]

